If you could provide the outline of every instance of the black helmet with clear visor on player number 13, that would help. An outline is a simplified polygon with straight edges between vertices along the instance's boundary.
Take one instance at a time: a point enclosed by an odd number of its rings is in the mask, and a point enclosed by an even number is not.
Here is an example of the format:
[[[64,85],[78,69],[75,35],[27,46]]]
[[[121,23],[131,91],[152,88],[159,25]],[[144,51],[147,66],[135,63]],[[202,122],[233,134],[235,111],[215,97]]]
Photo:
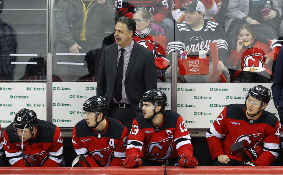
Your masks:
[[[148,90],[147,92],[144,93],[144,95],[142,95],[140,102],[140,109],[142,108],[142,101],[151,102],[153,105],[155,105],[155,103],[161,103],[162,110],[164,110],[167,105],[166,94],[161,90],[155,90],[155,89]]]

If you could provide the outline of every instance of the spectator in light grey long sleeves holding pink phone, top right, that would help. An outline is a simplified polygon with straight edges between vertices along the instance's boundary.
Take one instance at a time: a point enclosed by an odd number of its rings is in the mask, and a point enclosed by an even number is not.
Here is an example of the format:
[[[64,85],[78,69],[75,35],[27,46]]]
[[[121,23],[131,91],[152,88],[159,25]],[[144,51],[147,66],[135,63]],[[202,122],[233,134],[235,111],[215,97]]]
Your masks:
[[[264,9],[266,0],[249,1],[249,0],[229,0],[228,15],[229,19],[225,22],[225,31],[232,29],[239,24],[266,24],[272,27],[277,33],[277,19],[282,16],[282,1],[270,0],[270,14],[261,18],[261,10]]]

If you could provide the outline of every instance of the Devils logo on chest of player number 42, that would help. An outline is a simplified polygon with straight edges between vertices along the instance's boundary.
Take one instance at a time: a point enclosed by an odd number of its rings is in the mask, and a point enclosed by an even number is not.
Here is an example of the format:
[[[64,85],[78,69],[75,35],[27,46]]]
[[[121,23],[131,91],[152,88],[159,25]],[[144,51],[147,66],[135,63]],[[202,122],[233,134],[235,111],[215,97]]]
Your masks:
[[[252,135],[242,135],[242,136],[237,138],[236,142],[243,141],[244,142],[244,150],[247,150],[249,148],[252,148],[252,147],[258,145],[262,138],[263,137],[262,137],[261,133],[252,134]],[[239,154],[242,154],[241,150],[237,150],[237,151],[232,152],[232,155],[239,155]]]

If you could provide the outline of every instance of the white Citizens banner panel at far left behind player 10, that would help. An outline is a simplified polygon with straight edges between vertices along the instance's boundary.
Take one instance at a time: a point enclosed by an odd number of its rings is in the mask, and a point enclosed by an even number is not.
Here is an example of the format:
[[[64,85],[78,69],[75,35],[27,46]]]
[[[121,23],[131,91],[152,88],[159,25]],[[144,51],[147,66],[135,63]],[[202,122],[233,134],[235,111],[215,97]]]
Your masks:
[[[6,128],[22,108],[32,109],[46,120],[46,83],[1,82],[0,123]]]

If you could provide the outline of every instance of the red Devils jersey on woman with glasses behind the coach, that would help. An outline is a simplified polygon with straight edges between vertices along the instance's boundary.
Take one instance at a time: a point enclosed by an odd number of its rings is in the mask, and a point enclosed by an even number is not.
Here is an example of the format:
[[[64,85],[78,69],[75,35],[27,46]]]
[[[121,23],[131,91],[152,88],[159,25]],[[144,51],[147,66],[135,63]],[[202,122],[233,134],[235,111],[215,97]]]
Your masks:
[[[155,32],[156,31],[152,29],[149,29],[147,34],[138,34],[136,32],[134,35],[134,40],[155,54],[154,59],[157,69],[166,69],[170,65],[170,61],[166,58],[166,50],[163,47],[167,47],[167,37],[157,33],[157,43],[155,44]]]

